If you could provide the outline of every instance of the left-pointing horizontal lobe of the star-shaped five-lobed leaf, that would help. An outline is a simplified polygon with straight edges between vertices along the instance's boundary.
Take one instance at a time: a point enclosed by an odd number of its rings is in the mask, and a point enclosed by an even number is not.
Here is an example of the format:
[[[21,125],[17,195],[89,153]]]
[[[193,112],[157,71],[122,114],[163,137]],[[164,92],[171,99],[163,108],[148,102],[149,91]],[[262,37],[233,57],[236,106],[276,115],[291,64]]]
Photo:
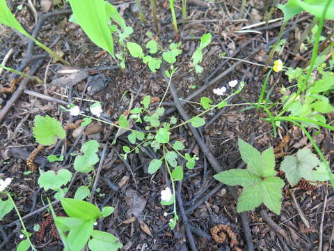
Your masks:
[[[261,181],[259,176],[247,169],[230,169],[214,175],[217,181],[226,185],[255,185]]]

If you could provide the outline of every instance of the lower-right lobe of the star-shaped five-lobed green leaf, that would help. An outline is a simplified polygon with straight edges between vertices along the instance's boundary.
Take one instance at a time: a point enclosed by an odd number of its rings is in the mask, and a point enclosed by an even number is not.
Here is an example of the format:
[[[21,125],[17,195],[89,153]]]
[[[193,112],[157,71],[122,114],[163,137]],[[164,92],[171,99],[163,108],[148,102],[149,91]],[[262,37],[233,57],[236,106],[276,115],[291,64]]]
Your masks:
[[[284,181],[278,177],[265,178],[262,183],[262,199],[273,213],[280,214],[282,206],[282,188],[285,185]]]

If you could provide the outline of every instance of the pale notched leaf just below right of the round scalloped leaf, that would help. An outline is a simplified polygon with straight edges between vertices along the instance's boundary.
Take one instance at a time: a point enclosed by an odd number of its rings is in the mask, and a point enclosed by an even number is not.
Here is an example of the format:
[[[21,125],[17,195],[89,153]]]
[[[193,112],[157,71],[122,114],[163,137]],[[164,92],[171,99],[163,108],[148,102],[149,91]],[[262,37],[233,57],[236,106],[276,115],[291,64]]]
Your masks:
[[[89,140],[81,146],[81,152],[84,155],[79,155],[74,160],[74,169],[77,172],[88,173],[93,171],[94,165],[99,162],[99,156],[96,154],[99,151],[100,144],[96,140]]]

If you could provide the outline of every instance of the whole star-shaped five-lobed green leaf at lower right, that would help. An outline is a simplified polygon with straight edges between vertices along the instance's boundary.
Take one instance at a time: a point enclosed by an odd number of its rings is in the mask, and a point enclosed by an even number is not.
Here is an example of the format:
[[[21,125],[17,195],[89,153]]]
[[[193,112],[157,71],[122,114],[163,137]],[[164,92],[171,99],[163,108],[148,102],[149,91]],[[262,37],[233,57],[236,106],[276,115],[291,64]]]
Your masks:
[[[280,213],[282,205],[282,188],[285,185],[281,178],[275,177],[275,155],[273,148],[260,153],[253,146],[239,139],[239,151],[246,169],[230,169],[216,174],[214,178],[226,185],[242,185],[237,212],[253,210],[262,202],[271,211]]]

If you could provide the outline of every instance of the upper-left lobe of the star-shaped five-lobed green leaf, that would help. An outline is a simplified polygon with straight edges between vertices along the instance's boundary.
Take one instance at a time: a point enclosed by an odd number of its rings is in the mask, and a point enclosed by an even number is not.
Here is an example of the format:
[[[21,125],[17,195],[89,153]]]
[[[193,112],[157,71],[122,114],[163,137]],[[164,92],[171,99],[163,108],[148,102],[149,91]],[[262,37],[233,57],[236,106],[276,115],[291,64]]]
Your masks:
[[[262,158],[260,151],[257,151],[253,146],[238,139],[239,151],[242,160],[248,165],[248,169],[254,172],[257,176],[262,175]]]

